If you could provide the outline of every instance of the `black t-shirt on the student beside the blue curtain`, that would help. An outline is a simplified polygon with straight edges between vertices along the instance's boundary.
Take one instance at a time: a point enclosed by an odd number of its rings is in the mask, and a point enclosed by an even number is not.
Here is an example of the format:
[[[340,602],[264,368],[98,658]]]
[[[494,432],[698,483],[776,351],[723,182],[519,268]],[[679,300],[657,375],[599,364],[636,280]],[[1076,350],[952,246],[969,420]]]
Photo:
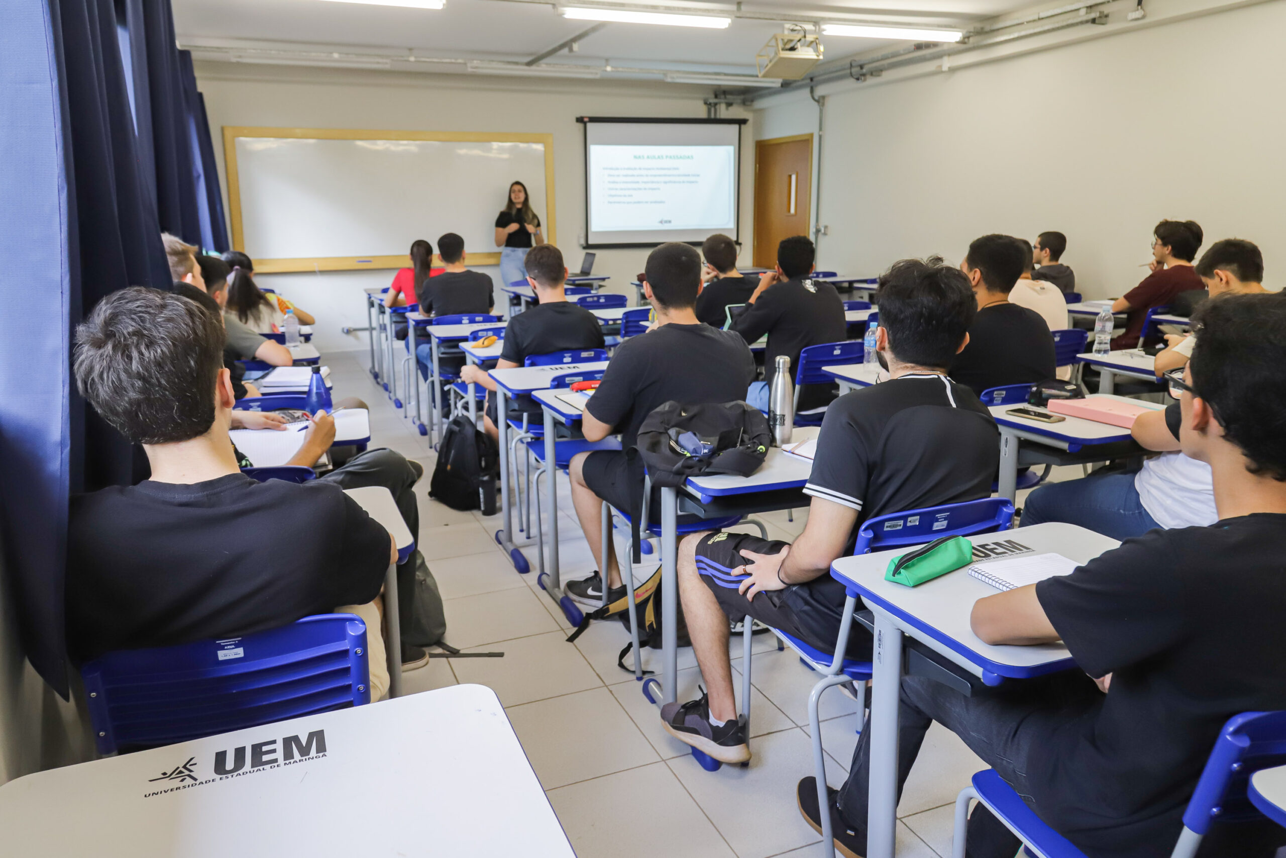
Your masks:
[[[262,632],[369,602],[387,569],[388,533],[333,482],[230,473],[77,495],[68,651],[82,662]]]

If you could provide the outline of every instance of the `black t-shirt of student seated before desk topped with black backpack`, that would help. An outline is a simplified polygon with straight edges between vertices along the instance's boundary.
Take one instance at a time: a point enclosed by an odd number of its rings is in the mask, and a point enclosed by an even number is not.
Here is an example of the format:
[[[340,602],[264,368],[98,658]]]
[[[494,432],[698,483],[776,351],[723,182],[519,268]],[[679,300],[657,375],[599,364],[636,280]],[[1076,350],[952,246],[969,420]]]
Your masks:
[[[754,378],[755,359],[739,334],[707,324],[664,324],[616,347],[585,408],[613,426],[628,450],[643,419],[665,403],[745,400]]]

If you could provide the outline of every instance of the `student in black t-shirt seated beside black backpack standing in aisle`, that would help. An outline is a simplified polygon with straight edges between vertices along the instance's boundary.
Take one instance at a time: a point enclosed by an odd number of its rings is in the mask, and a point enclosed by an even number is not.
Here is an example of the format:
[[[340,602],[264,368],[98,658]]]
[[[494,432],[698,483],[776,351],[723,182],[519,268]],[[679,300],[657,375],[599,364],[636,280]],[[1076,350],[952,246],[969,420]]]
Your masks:
[[[602,349],[603,325],[598,323],[598,318],[585,307],[568,301],[563,292],[567,266],[563,264],[562,252],[553,244],[536,244],[527,252],[526,266],[527,283],[536,291],[538,304],[509,319],[509,324],[504,328],[504,346],[500,349],[500,359],[495,363],[495,368],[521,367],[531,355],[574,349]],[[491,391],[486,405],[486,431],[491,437],[499,439],[495,382],[491,381],[491,376],[481,367],[469,364],[460,369],[460,378]],[[511,399],[509,405],[509,417],[521,421],[523,414],[529,414],[531,426],[540,424],[541,408],[535,400],[523,396],[520,400]]]

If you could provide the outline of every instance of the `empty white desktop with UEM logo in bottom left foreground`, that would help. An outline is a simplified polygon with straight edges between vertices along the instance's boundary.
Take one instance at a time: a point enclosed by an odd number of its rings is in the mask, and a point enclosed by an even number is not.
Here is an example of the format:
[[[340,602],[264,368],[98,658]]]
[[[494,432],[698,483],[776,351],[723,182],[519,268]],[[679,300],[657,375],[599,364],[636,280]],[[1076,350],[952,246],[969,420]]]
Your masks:
[[[302,744],[291,762],[283,737]],[[262,767],[215,774],[216,754],[247,746]],[[575,858],[482,686],[27,774],[0,787],[0,830],[13,855]]]

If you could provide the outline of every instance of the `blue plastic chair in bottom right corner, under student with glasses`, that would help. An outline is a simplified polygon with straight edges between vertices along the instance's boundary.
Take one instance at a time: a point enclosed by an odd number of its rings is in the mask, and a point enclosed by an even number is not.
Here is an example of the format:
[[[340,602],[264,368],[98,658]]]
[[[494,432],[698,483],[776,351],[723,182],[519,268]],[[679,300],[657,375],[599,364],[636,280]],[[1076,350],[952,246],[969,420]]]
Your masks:
[[[1250,776],[1286,763],[1286,711],[1235,715],[1219,731],[1197,786],[1183,813],[1183,830],[1170,858],[1192,858],[1213,822],[1246,822],[1260,817],[1247,795]],[[964,857],[968,803],[977,799],[1022,840],[1028,854],[1040,858],[1085,858],[1066,837],[1046,825],[1008,783],[986,769],[974,776],[955,799],[954,858]]]

